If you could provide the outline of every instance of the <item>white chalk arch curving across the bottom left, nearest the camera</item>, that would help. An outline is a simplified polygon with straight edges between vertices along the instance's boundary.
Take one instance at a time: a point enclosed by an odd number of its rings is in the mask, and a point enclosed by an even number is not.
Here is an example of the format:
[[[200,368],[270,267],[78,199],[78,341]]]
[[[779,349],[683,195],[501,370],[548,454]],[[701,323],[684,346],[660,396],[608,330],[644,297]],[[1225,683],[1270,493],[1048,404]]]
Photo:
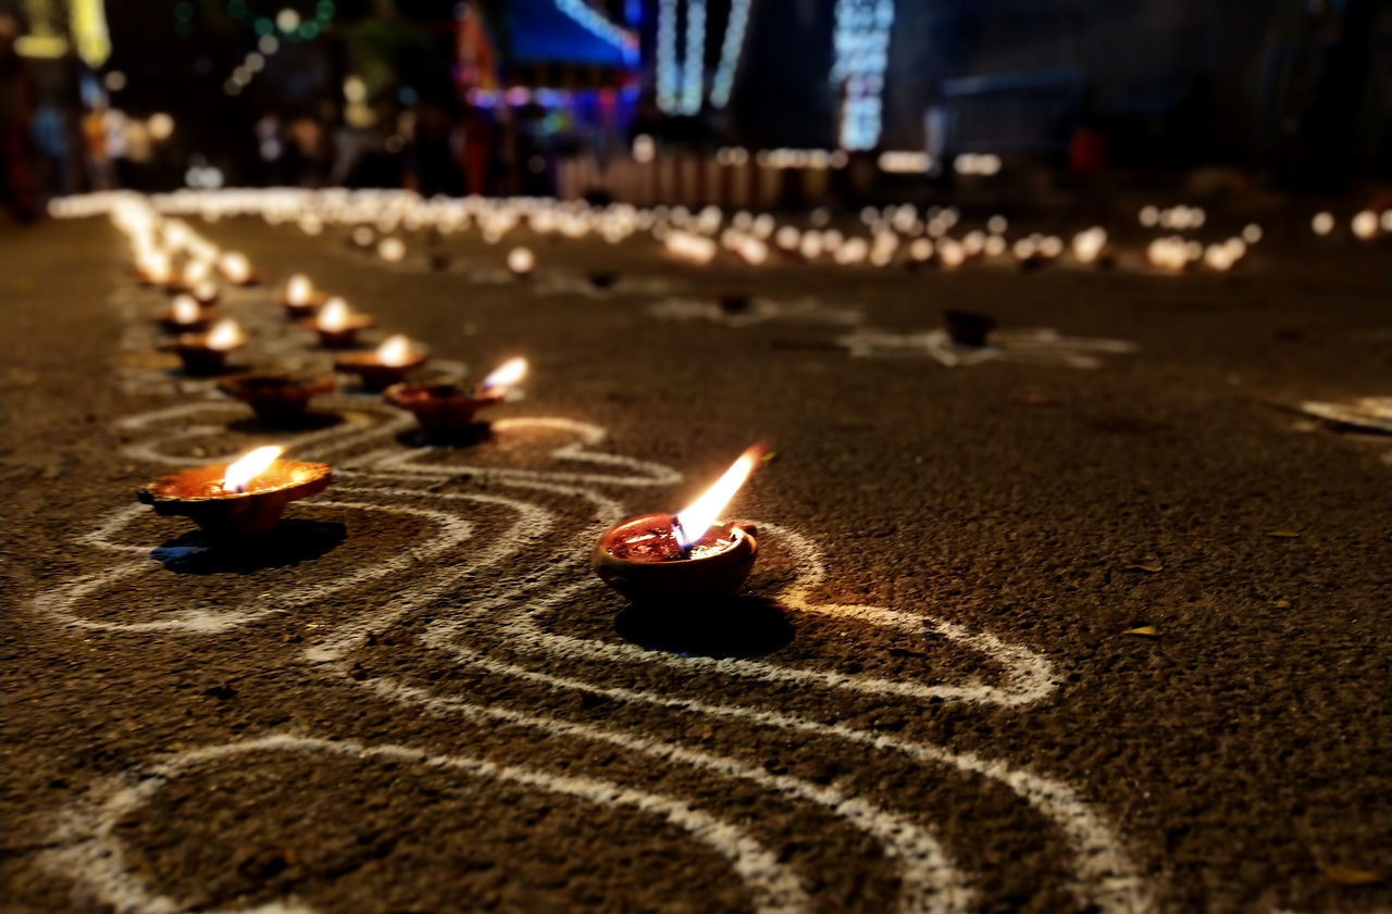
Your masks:
[[[45,851],[46,863],[82,883],[88,892],[117,911],[132,914],[181,914],[189,906],[167,895],[159,895],[135,878],[125,864],[117,826],[131,812],[146,805],[159,790],[187,769],[238,758],[252,753],[312,753],[331,754],[355,761],[388,761],[415,764],[425,768],[457,771],[466,776],[486,778],[575,797],[601,807],[629,807],[638,812],[665,819],[685,831],[729,861],[732,869],[754,896],[760,914],[800,914],[812,908],[802,882],[791,868],[748,832],[709,812],[674,797],[636,790],[617,783],[555,775],[518,765],[501,765],[486,758],[430,754],[405,746],[363,746],[349,740],[327,740],[303,736],[271,735],[241,743],[207,746],[173,755],[143,771],[127,772],[90,792],[88,804],[75,811],[64,824],[67,847]],[[244,762],[245,764],[245,762]],[[280,904],[280,903],[277,903]],[[310,911],[312,907],[294,903],[280,910]],[[246,908],[205,908],[245,913]],[[269,907],[256,908],[266,914]]]

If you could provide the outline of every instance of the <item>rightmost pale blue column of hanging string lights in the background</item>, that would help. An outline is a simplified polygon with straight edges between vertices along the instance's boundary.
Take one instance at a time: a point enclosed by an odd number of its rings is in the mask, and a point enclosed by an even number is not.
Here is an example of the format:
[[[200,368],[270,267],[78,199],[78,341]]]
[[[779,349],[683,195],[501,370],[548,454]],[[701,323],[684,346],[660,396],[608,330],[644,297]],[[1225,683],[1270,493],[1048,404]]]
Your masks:
[[[880,142],[894,0],[837,0],[835,15],[831,82],[845,86],[839,142],[844,149],[873,149]]]

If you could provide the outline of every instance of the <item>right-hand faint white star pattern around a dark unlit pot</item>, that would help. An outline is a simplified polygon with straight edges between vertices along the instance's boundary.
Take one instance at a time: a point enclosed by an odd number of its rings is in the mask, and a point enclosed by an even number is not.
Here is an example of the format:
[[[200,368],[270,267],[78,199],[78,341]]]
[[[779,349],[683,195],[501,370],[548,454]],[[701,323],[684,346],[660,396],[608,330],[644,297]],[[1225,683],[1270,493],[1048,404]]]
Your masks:
[[[1134,352],[1136,344],[1101,337],[1065,337],[1048,327],[998,330],[990,345],[962,346],[948,331],[937,328],[895,334],[884,330],[857,330],[837,339],[853,356],[917,356],[924,355],[948,367],[980,364],[983,362],[1023,362],[1055,364],[1069,369],[1101,367],[1101,355]]]

